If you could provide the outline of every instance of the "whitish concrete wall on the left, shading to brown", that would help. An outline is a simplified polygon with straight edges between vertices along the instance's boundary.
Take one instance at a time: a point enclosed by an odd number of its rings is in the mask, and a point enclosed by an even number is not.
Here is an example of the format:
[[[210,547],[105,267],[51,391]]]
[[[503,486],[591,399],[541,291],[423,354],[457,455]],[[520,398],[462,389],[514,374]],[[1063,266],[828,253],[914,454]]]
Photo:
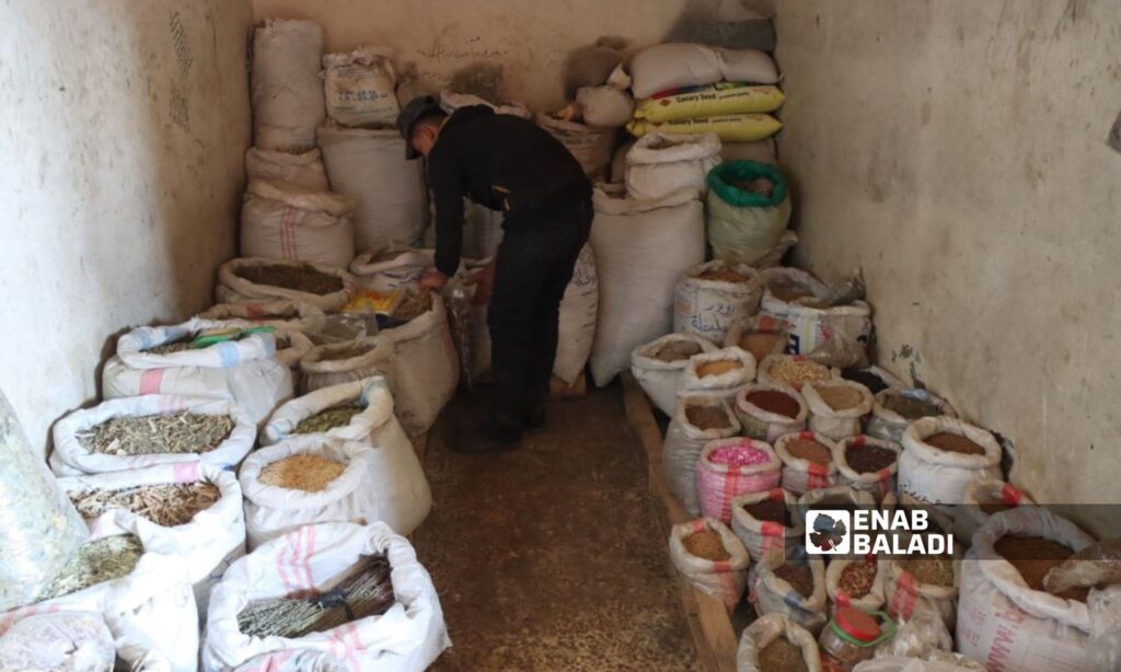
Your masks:
[[[249,143],[248,0],[6,2],[0,389],[33,445],[123,327],[211,302]]]

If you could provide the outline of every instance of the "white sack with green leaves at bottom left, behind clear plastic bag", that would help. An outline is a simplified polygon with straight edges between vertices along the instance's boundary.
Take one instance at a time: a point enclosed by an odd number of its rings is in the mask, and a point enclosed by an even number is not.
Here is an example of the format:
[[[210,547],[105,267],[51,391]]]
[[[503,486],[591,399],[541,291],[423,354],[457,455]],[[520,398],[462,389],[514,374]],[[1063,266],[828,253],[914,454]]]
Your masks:
[[[124,669],[197,669],[198,612],[183,559],[148,552],[131,535],[105,536],[83,545],[49,588],[52,597],[0,614],[0,635],[36,614],[94,613]]]

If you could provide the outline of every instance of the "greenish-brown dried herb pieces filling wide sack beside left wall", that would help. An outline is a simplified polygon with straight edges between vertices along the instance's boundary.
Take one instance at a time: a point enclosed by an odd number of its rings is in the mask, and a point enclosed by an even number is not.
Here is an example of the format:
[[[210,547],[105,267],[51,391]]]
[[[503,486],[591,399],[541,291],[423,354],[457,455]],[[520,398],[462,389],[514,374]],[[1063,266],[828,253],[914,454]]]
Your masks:
[[[121,416],[75,436],[86,450],[103,455],[165,455],[210,452],[233,431],[230,416],[179,411],[154,416]]]

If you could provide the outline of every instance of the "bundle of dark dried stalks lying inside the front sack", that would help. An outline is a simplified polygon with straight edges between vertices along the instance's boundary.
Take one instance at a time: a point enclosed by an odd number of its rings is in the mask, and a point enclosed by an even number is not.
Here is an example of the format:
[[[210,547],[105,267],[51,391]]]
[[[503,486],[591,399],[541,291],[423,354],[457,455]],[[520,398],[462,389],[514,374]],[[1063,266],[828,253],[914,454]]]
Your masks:
[[[307,599],[274,598],[238,614],[238,629],[252,637],[303,637],[345,623],[380,616],[393,606],[389,561],[372,556],[333,590]]]

